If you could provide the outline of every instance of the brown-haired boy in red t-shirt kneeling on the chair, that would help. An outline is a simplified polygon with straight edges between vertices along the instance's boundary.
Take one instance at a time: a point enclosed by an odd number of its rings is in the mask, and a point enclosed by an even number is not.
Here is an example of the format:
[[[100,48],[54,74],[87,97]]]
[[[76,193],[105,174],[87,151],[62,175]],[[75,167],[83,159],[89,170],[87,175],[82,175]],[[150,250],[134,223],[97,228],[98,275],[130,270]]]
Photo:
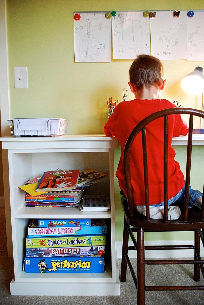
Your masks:
[[[154,56],[139,55],[129,70],[128,82],[135,99],[121,102],[104,126],[105,135],[116,137],[121,144],[121,156],[116,171],[119,186],[126,196],[123,175],[123,151],[127,137],[132,129],[145,117],[156,111],[176,107],[170,101],[160,99],[165,86],[163,65]],[[169,116],[169,168],[168,168],[168,205],[175,201],[184,201],[185,181],[179,163],[174,160],[175,151],[171,146],[172,138],[187,135],[187,124],[180,115]],[[146,127],[147,154],[149,171],[150,217],[163,218],[163,119],[153,121]],[[141,139],[136,137],[130,155],[131,177],[134,207],[145,215],[144,174],[141,151]],[[149,152],[149,153],[148,153]],[[201,208],[202,193],[189,188],[189,205]],[[177,206],[169,206],[168,219],[178,219],[181,211]]]

